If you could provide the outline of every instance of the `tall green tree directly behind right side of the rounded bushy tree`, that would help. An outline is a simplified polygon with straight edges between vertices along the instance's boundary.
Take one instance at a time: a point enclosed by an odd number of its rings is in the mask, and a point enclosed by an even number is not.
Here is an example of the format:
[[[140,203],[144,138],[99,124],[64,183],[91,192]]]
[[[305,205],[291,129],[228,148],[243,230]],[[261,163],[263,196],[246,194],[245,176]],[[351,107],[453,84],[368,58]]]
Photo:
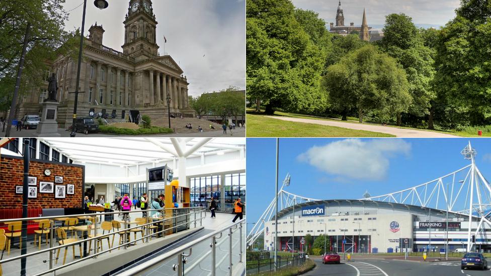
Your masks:
[[[431,80],[435,73],[432,50],[426,47],[411,17],[390,14],[385,17],[381,47],[404,68],[413,98],[408,113],[415,117],[429,114],[430,101],[435,98]],[[397,117],[400,125],[401,115]],[[414,123],[417,124],[417,123]]]

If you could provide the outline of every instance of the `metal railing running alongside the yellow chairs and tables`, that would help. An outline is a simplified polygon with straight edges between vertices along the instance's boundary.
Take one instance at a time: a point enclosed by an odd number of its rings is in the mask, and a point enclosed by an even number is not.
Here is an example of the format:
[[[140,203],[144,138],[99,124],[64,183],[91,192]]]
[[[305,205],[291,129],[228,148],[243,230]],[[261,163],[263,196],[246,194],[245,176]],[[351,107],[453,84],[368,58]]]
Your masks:
[[[148,212],[160,212],[161,211],[161,215],[163,217],[160,217],[160,218],[153,218],[152,220],[152,217],[149,216]],[[173,216],[171,217],[165,217],[165,214],[168,212],[168,211],[172,211],[173,212]],[[130,217],[129,217],[129,214],[130,213],[143,213],[143,212],[146,212],[146,216],[144,216],[143,218],[146,218],[145,220],[145,223],[144,224],[137,224],[136,226],[134,227],[129,227],[128,223],[129,223],[129,220],[130,220]],[[181,214],[181,215],[177,215],[177,213],[180,212],[184,212],[184,214]],[[107,214],[111,214],[111,215],[114,215],[114,214],[123,214],[123,223],[122,223],[122,228],[121,230],[117,229],[115,230],[116,228],[113,228],[114,231],[110,231],[108,232],[107,234],[100,234],[98,235],[98,227],[97,227],[97,224],[101,224],[102,223],[102,219],[101,221],[99,221],[96,225],[94,225],[94,228],[92,229],[89,229],[87,230],[88,232],[94,232],[94,237],[92,238],[89,238],[88,235],[90,233],[87,233],[86,235],[86,231],[82,231],[82,235],[83,235],[83,239],[80,239],[80,240],[76,240],[76,241],[72,241],[70,243],[67,243],[67,244],[62,244],[62,245],[58,245],[58,246],[54,246],[55,244],[55,231],[56,231],[56,222],[54,221],[55,219],[60,219],[60,218],[75,218],[75,217],[98,217],[98,216],[103,216],[103,215],[107,215]],[[191,220],[191,216],[194,215],[193,217],[193,220]],[[179,225],[175,225],[174,222],[177,222],[177,219],[178,218],[185,218],[185,221],[184,223],[181,223]],[[24,254],[24,255],[19,255],[19,256],[15,256],[15,257],[10,257],[8,259],[2,259],[0,260],[0,264],[4,264],[4,263],[8,263],[8,262],[11,262],[11,261],[15,261],[15,260],[18,260],[18,259],[23,259],[23,258],[28,258],[28,257],[31,257],[31,256],[35,256],[35,255],[38,255],[38,254],[43,254],[43,253],[46,253],[46,252],[49,252],[49,259],[48,260],[43,260],[44,263],[48,263],[49,264],[49,269],[48,270],[45,270],[45,271],[41,271],[41,272],[38,272],[36,274],[34,274],[35,276],[38,276],[38,275],[44,275],[44,274],[47,274],[47,273],[51,273],[51,272],[56,272],[56,270],[59,270],[61,268],[65,268],[65,267],[68,267],[70,265],[73,265],[75,263],[78,263],[78,262],[81,262],[81,261],[84,261],[84,260],[87,260],[87,259],[92,259],[92,258],[97,258],[97,256],[101,255],[101,254],[104,254],[104,253],[107,253],[107,252],[111,252],[115,249],[118,249],[118,248],[123,248],[123,249],[127,249],[129,245],[131,244],[135,244],[136,245],[136,242],[137,241],[143,241],[144,243],[148,243],[149,241],[149,238],[151,237],[158,237],[158,235],[162,235],[165,236],[166,232],[172,230],[173,232],[176,231],[178,232],[177,229],[179,229],[179,227],[185,227],[186,229],[190,229],[191,228],[191,224],[194,224],[194,227],[196,228],[197,227],[197,221],[199,221],[200,223],[200,226],[202,226],[202,220],[206,217],[206,210],[201,208],[201,207],[188,207],[188,208],[178,208],[178,209],[175,209],[175,208],[168,208],[168,209],[148,209],[148,210],[139,210],[139,211],[121,211],[121,212],[110,212],[110,213],[89,213],[89,214],[77,214],[77,215],[63,215],[63,216],[49,216],[49,217],[32,217],[32,218],[18,218],[18,219],[3,219],[3,220],[0,220],[0,223],[5,223],[5,224],[8,224],[10,222],[22,222],[22,221],[33,221],[33,220],[49,220],[49,223],[50,223],[50,227],[49,227],[49,248],[46,248],[46,249],[41,249],[41,250],[37,250],[35,252],[31,252],[31,253],[27,253],[27,254]],[[114,217],[112,220],[110,220],[111,222],[114,221]],[[169,221],[169,220],[173,220],[173,225],[172,227],[168,227],[166,228],[165,227],[165,222],[166,221]],[[118,220],[120,221],[120,220]],[[149,222],[151,221],[151,222]],[[61,222],[61,223],[64,223],[64,222]],[[150,228],[149,226],[151,225],[156,225],[156,224],[162,224],[162,230],[160,231],[154,231],[153,233],[150,233]],[[77,226],[80,226],[81,224],[79,223]],[[145,232],[145,234],[143,234],[142,232],[142,237],[140,238],[137,238],[137,239],[134,239],[132,241],[129,241],[129,235],[130,235],[130,230],[132,229],[138,229],[138,228],[141,228],[143,229],[143,232]],[[92,231],[94,230],[94,231]],[[70,230],[68,230],[70,231]],[[75,231],[75,234],[76,232],[80,231],[80,230],[71,230],[71,231]],[[98,246],[98,243],[97,243],[97,240],[101,240],[101,245],[102,245],[102,239],[104,238],[109,238],[110,236],[112,235],[116,235],[116,234],[120,234],[122,235],[122,240],[123,242],[114,246],[114,247],[111,247],[109,246],[110,248],[107,249],[107,250],[104,250],[104,251],[99,251],[99,246]],[[38,234],[40,235],[40,234]],[[43,234],[45,235],[45,234]],[[68,236],[68,233],[67,233],[67,236]],[[94,240],[94,253],[92,255],[90,255],[90,252],[87,252],[87,242],[92,242]],[[37,242],[37,241],[34,241],[34,242]],[[63,264],[63,265],[60,265],[60,266],[57,266],[57,267],[53,267],[53,261],[54,260],[57,260],[58,258],[54,258],[54,252],[57,250],[57,249],[62,249],[62,248],[65,248],[65,247],[70,247],[70,246],[75,246],[75,245],[79,245],[81,246],[81,244],[84,244],[84,251],[83,251],[83,256],[79,256],[79,259],[74,259],[73,261],[71,262],[68,262],[66,264]],[[22,246],[27,246],[27,241],[22,241]],[[7,247],[7,244],[5,245],[5,248]],[[5,248],[4,248],[4,251],[5,251]],[[37,245],[36,245],[36,248],[37,248]],[[102,247],[101,247],[102,248]],[[4,270],[4,273],[8,273],[10,271],[8,271],[7,269],[3,269]],[[16,269],[18,270],[18,269]]]

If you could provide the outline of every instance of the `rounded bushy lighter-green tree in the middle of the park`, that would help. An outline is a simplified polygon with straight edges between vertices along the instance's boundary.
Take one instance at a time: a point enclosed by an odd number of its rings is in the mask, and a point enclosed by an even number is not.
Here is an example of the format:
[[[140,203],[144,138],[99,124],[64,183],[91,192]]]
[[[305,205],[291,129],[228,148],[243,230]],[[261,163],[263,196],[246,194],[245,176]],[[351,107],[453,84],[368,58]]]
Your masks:
[[[367,112],[394,116],[411,104],[404,71],[372,45],[331,65],[324,76],[324,87],[335,110],[346,118],[346,112],[355,108],[360,122]]]

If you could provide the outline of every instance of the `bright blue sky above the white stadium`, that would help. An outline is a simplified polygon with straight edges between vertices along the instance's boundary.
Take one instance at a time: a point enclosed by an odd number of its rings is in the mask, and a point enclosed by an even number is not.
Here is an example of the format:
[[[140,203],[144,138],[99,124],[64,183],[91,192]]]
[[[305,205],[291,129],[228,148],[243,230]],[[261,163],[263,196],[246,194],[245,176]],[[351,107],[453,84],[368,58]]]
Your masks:
[[[491,178],[487,139],[280,138],[278,189],[289,172],[285,191],[312,199],[397,192],[470,164],[460,154],[469,141],[477,151],[476,166]],[[275,160],[275,138],[247,139],[248,223],[256,222],[275,196]]]

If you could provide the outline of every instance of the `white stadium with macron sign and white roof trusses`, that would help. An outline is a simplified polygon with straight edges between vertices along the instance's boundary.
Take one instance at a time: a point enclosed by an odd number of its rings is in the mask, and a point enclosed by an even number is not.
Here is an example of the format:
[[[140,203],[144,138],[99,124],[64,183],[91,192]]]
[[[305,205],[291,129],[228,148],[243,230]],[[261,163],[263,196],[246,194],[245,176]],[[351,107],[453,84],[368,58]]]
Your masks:
[[[491,251],[491,188],[475,164],[476,150],[461,151],[470,164],[421,185],[361,199],[317,200],[278,192],[278,215],[270,203],[248,235],[256,250],[304,252],[301,240],[310,235],[329,237],[328,251]],[[277,230],[275,228],[277,227]],[[277,233],[276,233],[277,231]],[[261,241],[262,246],[257,241]]]

